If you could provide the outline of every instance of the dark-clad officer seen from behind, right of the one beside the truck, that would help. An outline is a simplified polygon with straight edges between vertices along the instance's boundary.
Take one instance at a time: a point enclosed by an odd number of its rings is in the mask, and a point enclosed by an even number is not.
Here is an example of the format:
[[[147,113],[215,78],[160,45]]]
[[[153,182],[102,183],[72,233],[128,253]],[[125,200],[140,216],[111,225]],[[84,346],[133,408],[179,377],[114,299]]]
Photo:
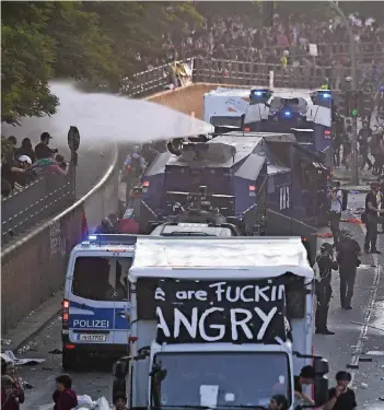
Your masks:
[[[347,230],[341,230],[340,242],[336,247],[340,273],[341,308],[350,311],[357,268],[360,265],[361,248]]]

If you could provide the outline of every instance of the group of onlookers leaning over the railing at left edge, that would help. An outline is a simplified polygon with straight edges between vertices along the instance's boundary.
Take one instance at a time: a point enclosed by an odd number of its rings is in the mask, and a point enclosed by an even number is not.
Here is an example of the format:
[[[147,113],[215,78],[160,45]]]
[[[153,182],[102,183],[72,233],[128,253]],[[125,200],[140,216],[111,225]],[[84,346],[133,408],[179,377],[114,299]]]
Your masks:
[[[15,137],[8,138],[11,149],[1,159],[2,198],[9,197],[15,190],[22,190],[43,175],[67,175],[68,163],[58,150],[49,147],[51,139],[48,132],[43,132],[40,142],[33,148],[30,138],[24,138],[21,147],[18,147]]]

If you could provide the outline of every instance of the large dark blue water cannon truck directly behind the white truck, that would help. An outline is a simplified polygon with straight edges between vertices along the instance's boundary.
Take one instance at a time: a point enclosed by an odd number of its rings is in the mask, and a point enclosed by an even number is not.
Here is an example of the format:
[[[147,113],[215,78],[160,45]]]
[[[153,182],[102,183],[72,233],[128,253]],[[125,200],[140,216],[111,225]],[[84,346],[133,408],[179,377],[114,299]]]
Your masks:
[[[200,215],[209,211],[223,218],[216,225],[230,223],[241,235],[295,234],[312,241],[328,169],[293,134],[229,132],[206,142],[170,141],[168,149],[146,171],[141,192],[137,188],[128,203],[140,233],[175,221],[207,223]],[[197,196],[200,209],[194,211]],[[187,220],[175,219],[181,207]]]

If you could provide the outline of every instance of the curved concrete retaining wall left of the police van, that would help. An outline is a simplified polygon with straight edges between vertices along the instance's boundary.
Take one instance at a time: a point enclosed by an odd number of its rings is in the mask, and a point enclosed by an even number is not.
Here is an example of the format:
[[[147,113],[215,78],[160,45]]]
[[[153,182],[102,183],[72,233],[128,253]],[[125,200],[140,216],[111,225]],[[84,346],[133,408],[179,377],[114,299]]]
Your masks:
[[[12,328],[65,281],[68,257],[102,218],[116,212],[118,202],[117,148],[101,180],[80,200],[54,219],[5,246],[1,254],[1,330]]]

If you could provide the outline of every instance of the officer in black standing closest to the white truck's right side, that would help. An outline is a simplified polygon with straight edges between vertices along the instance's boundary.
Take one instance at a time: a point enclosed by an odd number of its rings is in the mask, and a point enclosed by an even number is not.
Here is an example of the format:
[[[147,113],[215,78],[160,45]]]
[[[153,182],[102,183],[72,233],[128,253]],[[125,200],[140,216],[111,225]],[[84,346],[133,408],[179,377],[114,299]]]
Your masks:
[[[316,282],[316,333],[317,335],[335,335],[334,331],[328,330],[327,319],[329,302],[331,296],[331,271],[338,269],[338,265],[333,260],[333,245],[325,243],[321,247],[321,254],[316,257],[318,266],[319,278]]]

